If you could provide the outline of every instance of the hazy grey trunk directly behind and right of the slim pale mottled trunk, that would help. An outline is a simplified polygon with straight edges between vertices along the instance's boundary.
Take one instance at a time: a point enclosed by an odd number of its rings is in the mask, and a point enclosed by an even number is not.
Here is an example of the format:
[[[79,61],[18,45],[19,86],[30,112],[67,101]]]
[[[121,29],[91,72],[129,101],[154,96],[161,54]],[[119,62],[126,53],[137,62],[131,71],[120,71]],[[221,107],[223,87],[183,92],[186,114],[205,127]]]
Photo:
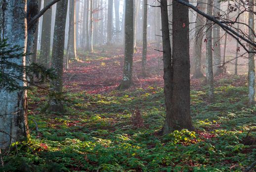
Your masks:
[[[220,15],[220,1],[214,0],[213,15],[219,17]],[[220,27],[213,25],[213,74],[218,76],[221,74],[221,54],[220,54]]]

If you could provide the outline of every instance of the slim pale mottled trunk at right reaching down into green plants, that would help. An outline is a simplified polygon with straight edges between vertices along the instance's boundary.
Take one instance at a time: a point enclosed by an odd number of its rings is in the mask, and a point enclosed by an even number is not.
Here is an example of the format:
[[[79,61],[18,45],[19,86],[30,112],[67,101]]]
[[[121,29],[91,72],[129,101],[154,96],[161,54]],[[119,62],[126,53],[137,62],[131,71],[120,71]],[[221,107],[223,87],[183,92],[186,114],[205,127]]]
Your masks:
[[[207,14],[213,15],[213,0],[207,1]],[[206,43],[206,79],[207,84],[209,86],[209,98],[210,103],[213,103],[213,39],[212,39],[212,24],[211,21],[207,21],[206,26],[206,37],[207,37],[207,43]]]

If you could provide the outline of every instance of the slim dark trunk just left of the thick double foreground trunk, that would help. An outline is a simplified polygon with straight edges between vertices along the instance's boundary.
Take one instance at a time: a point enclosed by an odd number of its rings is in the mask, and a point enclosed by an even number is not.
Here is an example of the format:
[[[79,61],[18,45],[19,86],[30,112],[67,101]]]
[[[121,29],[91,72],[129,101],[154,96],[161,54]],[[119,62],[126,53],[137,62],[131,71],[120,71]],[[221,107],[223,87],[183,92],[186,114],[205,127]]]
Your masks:
[[[142,75],[146,76],[146,59],[147,59],[147,13],[148,0],[143,0],[143,47],[142,47]]]

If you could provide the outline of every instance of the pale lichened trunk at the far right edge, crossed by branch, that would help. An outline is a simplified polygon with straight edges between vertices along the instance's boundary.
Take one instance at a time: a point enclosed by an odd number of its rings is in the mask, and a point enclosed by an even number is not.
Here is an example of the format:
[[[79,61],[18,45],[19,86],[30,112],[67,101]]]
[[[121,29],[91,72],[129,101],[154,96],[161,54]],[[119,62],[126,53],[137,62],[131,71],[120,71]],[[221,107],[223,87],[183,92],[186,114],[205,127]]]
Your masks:
[[[254,0],[249,0],[249,5],[251,10],[249,11],[249,36],[251,40],[255,40],[254,36]],[[249,45],[249,51],[254,51],[254,46]],[[248,96],[249,96],[249,105],[255,104],[255,55],[254,53],[249,53],[249,70],[248,70]]]

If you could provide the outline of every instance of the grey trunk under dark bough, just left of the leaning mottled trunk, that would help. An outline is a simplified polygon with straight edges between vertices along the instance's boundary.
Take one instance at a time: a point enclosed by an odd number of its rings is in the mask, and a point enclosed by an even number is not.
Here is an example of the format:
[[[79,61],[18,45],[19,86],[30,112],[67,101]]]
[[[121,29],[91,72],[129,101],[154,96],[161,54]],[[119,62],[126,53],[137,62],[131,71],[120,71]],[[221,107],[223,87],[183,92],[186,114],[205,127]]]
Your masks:
[[[44,0],[43,6],[45,7],[51,0]],[[43,14],[41,48],[40,48],[40,64],[49,68],[50,61],[50,41],[51,41],[51,8]]]

